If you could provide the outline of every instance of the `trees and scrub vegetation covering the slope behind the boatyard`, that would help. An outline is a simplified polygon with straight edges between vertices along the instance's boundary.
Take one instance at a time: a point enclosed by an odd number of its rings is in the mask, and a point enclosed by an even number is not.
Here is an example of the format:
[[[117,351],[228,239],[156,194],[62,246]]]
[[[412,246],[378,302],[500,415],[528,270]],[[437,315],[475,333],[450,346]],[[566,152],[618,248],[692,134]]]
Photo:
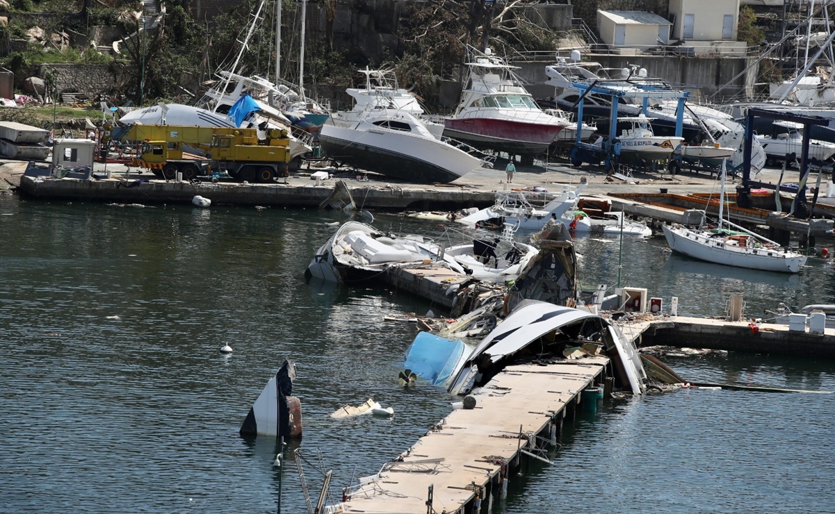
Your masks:
[[[193,101],[205,81],[215,78],[217,69],[231,68],[240,52],[240,42],[250,27],[259,0],[243,0],[210,23],[191,17],[193,0],[166,3],[164,23],[144,30],[142,18],[134,15],[142,6],[136,0],[12,0],[8,27],[0,28],[0,66],[24,78],[38,72],[43,63],[108,63],[114,77],[121,79],[114,92],[119,103],[149,104],[158,99]],[[282,1],[282,76],[297,82],[300,46],[298,23],[301,3]],[[314,83],[352,82],[354,70],[370,66],[392,67],[403,84],[418,94],[433,91],[438,78],[453,76],[463,62],[467,45],[483,48],[489,39],[497,53],[506,49],[550,50],[555,34],[520,16],[522,2],[492,3],[487,0],[426,0],[407,3],[397,28],[397,45],[386,48],[382,60],[369,62],[359,49],[337,48],[332,29],[337,22],[337,1],[321,0],[326,31],[320,40],[306,42],[306,79]],[[343,0],[345,1],[345,0]],[[273,4],[274,6],[275,4]],[[309,9],[311,7],[308,7]],[[352,3],[359,12],[372,14],[372,5]],[[62,14],[42,17],[36,13]],[[266,3],[262,22],[255,28],[248,50],[237,67],[242,74],[275,77],[275,8]],[[91,28],[117,27],[126,37],[115,57],[95,48],[62,45],[60,36],[75,33],[91,36]],[[24,43],[33,27],[43,29],[45,42]],[[133,34],[133,36],[131,36]],[[64,43],[65,43],[64,39]],[[4,45],[2,42],[10,42]],[[63,48],[63,49],[59,49]]]

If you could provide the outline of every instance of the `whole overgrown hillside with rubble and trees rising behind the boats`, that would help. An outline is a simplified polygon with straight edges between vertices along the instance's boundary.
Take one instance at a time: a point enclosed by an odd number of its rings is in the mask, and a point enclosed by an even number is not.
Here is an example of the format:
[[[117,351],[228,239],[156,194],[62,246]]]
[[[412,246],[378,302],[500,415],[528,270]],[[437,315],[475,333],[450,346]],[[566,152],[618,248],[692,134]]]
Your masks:
[[[154,17],[153,3],[147,4],[152,8],[143,16],[141,3],[124,0],[14,0],[12,4],[0,0],[7,14],[5,20],[0,19],[4,36],[0,38],[0,66],[14,73],[18,91],[23,90],[25,78],[34,76],[44,79],[50,95],[70,90],[82,96],[90,93],[89,100],[101,93],[103,99],[119,105],[157,100],[190,103],[205,90],[215,70],[235,63],[240,41],[250,29],[251,13],[260,1],[244,0],[226,13],[198,22],[192,17],[194,6],[186,0],[165,3],[164,16],[159,17]],[[398,12],[392,25],[378,19],[377,3],[310,3],[306,82],[344,88],[352,83],[357,68],[392,67],[402,83],[420,94],[423,88],[435,87],[438,78],[448,77],[462,62],[467,44],[481,46],[487,35],[499,52],[504,48],[552,50],[558,35],[523,16],[523,8],[531,5],[528,2],[500,8],[485,0],[395,4]],[[282,71],[286,73],[298,69],[300,9],[301,3],[282,2]],[[275,60],[272,11],[269,5],[264,8],[248,51],[240,55],[237,68],[243,73],[272,76],[275,71],[271,66]],[[334,35],[343,29],[340,23],[345,16],[352,20],[371,17],[377,23],[356,29],[360,32],[352,35],[356,44],[346,43]],[[68,66],[44,66],[48,63]],[[73,84],[68,74],[81,69],[73,64],[99,65],[97,73],[106,77],[96,78],[106,85],[95,80],[89,80],[87,88]]]

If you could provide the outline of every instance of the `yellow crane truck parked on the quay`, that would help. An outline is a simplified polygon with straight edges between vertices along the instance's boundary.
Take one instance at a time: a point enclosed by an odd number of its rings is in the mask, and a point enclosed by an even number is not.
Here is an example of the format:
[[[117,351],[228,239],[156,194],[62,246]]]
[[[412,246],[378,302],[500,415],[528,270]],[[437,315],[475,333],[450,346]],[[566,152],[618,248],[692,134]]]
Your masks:
[[[134,125],[123,139],[141,142],[135,166],[164,179],[175,179],[178,172],[184,180],[226,172],[240,181],[268,183],[283,176],[290,160],[290,139],[280,128],[258,139],[256,128]],[[184,145],[203,150],[205,157],[184,154]]]

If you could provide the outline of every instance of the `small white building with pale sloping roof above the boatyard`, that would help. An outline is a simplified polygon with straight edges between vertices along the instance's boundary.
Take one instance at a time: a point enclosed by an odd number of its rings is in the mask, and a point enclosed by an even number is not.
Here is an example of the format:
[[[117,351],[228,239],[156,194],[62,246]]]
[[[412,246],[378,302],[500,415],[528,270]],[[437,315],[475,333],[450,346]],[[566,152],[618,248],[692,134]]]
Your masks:
[[[669,21],[654,13],[597,11],[597,31],[600,33],[600,39],[612,47],[615,53],[635,53],[624,50],[645,50],[666,45],[670,43],[671,25]]]

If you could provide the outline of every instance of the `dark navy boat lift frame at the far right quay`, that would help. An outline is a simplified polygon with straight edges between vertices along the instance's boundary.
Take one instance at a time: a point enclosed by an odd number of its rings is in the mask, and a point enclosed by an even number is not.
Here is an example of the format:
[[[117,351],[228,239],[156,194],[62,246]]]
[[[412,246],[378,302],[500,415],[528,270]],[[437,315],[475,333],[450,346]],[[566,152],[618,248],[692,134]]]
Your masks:
[[[754,134],[754,118],[770,118],[783,121],[792,121],[803,125],[803,142],[800,159],[800,179],[797,182],[797,189],[780,185],[780,190],[787,193],[795,193],[793,211],[797,218],[807,218],[806,209],[806,180],[809,174],[809,126],[827,125],[829,120],[820,116],[803,116],[802,114],[782,113],[764,108],[749,108],[745,124],[745,154],[742,161],[742,184],[736,188],[736,204],[740,207],[751,207],[751,188],[776,189],[775,184],[766,184],[751,179],[751,145]],[[789,156],[786,156],[787,159]],[[832,169],[832,180],[835,181],[835,169]],[[817,192],[815,193],[817,198]]]

